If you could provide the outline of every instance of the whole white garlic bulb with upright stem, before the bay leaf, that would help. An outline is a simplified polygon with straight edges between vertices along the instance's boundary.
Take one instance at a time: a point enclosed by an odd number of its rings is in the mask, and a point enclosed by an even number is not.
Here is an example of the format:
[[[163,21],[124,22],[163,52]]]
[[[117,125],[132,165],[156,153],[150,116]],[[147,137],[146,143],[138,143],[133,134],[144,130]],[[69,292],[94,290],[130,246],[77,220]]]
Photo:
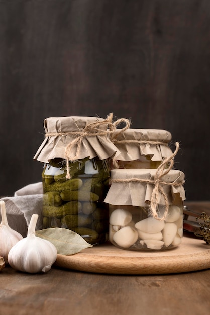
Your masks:
[[[8,262],[14,269],[29,272],[47,272],[57,258],[57,249],[49,241],[36,236],[38,214],[33,214],[27,237],[13,246],[8,254]]]

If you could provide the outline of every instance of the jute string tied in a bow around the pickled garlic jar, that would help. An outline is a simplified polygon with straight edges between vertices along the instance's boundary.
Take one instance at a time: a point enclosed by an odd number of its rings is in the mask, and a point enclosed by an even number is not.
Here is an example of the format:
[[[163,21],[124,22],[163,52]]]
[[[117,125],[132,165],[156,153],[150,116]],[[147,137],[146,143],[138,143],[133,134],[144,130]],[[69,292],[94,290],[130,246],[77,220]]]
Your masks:
[[[162,177],[166,174],[169,173],[169,171],[172,169],[173,165],[174,165],[174,157],[177,154],[178,150],[179,150],[179,143],[176,142],[176,149],[174,151],[174,153],[170,156],[167,157],[163,160],[163,162],[160,164],[160,166],[157,168],[157,171],[155,173],[154,176],[154,180],[152,179],[139,179],[139,178],[130,178],[130,179],[112,179],[111,183],[119,183],[119,182],[123,182],[123,183],[129,183],[129,182],[137,182],[137,183],[145,183],[145,184],[152,184],[154,185],[152,194],[151,194],[151,203],[150,203],[150,209],[151,209],[151,215],[159,220],[165,220],[167,214],[168,214],[168,209],[169,209],[169,203],[168,203],[168,198],[167,195],[162,187],[162,185],[169,185],[169,186],[181,186],[184,184],[184,181],[179,181],[179,182],[175,182],[175,183],[171,183],[171,182],[167,182],[167,181],[163,181]],[[165,166],[169,164],[169,167],[166,169]],[[165,201],[165,212],[163,214],[162,217],[158,217],[158,196],[159,194],[161,194],[164,198]]]

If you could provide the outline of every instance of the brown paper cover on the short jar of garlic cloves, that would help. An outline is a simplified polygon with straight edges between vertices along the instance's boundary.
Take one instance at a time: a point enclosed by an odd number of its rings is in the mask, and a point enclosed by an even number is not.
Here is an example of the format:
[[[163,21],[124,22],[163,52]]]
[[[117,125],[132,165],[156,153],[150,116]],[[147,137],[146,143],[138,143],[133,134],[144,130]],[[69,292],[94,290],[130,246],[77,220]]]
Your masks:
[[[169,204],[172,204],[176,194],[185,200],[184,173],[179,170],[170,170],[167,174],[158,178],[155,183],[155,169],[118,169],[111,171],[111,187],[104,202],[112,205],[133,205],[146,207],[151,202],[151,196],[155,185],[164,190]],[[163,195],[158,191],[158,204],[165,204]]]

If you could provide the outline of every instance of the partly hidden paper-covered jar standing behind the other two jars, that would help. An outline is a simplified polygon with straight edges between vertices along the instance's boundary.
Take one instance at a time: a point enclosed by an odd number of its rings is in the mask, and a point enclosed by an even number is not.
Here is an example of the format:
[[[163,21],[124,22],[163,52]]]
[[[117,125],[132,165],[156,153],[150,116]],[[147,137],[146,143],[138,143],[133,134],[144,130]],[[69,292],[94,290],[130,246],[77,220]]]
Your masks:
[[[115,131],[111,141],[121,152],[110,160],[110,169],[156,169],[172,151],[171,133],[161,129],[127,129]],[[116,163],[117,162],[117,163]]]

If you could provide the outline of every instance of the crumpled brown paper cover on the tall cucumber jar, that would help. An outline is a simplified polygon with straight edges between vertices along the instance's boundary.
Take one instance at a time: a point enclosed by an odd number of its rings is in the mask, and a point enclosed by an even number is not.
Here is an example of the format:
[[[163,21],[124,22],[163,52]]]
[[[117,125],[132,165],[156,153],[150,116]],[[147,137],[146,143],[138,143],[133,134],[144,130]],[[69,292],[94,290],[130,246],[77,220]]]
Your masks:
[[[96,123],[94,126],[92,124]],[[120,151],[107,136],[107,120],[99,117],[49,117],[44,120],[45,139],[37,150],[34,160],[48,163],[57,158],[66,159],[69,147],[69,160],[98,156],[108,159]],[[73,143],[74,144],[73,144]],[[78,149],[79,146],[79,149]]]

